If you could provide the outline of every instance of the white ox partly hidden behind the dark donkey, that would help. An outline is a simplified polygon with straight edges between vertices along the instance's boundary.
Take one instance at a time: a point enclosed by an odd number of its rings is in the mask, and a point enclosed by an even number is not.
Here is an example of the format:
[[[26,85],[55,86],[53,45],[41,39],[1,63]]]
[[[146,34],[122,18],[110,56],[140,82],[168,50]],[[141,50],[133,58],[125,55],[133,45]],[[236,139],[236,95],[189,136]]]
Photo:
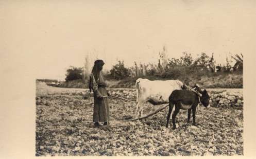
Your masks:
[[[179,80],[155,80],[139,78],[136,80],[136,117],[142,116],[143,104],[153,105],[169,103],[169,96],[174,90],[181,90],[183,83]]]

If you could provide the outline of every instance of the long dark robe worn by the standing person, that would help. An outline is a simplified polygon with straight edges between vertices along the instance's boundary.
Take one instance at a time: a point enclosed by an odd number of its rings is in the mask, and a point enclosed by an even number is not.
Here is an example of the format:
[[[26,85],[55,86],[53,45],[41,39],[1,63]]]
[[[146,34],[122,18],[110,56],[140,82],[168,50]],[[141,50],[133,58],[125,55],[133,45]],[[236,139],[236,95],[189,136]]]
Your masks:
[[[92,90],[94,96],[93,122],[109,122],[109,104],[108,97],[99,99],[100,95],[107,96],[106,82],[103,74],[99,72],[99,78],[96,81],[93,74],[90,74]]]

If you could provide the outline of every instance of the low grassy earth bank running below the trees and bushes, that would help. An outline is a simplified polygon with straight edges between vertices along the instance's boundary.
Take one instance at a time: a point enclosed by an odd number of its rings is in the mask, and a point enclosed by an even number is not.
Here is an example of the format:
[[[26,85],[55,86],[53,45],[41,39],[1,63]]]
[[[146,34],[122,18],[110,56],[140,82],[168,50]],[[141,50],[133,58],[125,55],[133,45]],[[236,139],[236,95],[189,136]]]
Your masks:
[[[174,80],[178,79],[187,85],[194,85],[198,83],[204,88],[225,88],[225,89],[242,89],[243,88],[243,73],[206,73],[206,74],[181,74],[180,76],[174,78],[163,78],[159,76],[143,76],[126,78],[123,80],[113,80],[107,79],[107,84],[109,88],[135,88],[135,81],[138,78],[146,78],[149,80]],[[87,88],[88,84],[82,82],[82,80],[74,80],[69,82],[62,82],[60,87],[69,88]]]

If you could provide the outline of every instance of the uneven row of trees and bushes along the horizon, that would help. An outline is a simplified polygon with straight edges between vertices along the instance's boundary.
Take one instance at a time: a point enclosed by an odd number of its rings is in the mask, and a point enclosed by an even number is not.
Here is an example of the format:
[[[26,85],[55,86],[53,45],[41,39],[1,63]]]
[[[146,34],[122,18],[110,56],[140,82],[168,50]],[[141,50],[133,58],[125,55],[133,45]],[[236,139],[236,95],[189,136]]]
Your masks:
[[[232,60],[235,60],[235,64],[231,66]],[[178,59],[167,58],[167,50],[163,47],[162,51],[159,51],[158,63],[136,63],[131,67],[126,67],[124,61],[117,61],[110,70],[104,72],[104,75],[108,79],[122,80],[134,77],[145,76],[157,76],[160,78],[176,79],[178,76],[185,74],[210,74],[216,72],[243,72],[243,54],[236,54],[231,56],[231,59],[226,57],[226,64],[216,64],[214,60],[214,53],[209,57],[206,53],[201,54],[193,59],[191,54],[182,52],[182,56]],[[82,80],[88,81],[90,74],[90,64],[88,56],[85,58],[83,67],[70,66],[66,70],[65,81]]]

